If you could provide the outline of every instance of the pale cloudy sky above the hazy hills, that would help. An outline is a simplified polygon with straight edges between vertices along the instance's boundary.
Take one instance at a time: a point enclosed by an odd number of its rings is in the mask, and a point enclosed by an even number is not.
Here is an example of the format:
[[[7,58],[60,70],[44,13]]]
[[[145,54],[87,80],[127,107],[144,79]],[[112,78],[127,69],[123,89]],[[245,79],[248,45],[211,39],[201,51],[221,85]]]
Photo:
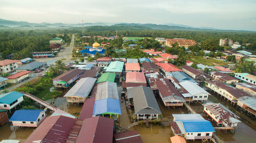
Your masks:
[[[256,0],[0,0],[0,18],[31,23],[175,23],[256,31]]]

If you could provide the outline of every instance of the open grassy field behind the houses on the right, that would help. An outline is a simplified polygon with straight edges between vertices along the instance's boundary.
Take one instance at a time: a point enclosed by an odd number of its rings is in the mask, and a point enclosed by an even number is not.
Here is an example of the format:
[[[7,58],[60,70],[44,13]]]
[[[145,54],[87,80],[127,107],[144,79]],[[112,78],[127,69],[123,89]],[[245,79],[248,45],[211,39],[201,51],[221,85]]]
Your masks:
[[[216,60],[213,58],[204,59],[202,56],[193,56],[189,59],[189,61],[194,62],[195,64],[203,64],[206,66],[224,66],[229,63],[223,62],[221,60]]]

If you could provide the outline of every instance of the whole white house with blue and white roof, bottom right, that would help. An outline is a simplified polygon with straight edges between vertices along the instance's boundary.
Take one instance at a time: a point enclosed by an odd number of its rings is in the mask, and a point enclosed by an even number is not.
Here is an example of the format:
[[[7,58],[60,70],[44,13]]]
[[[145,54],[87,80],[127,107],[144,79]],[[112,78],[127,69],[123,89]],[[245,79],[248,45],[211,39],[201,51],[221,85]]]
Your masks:
[[[173,114],[174,121],[170,126],[175,135],[185,139],[211,139],[214,127],[199,114]]]

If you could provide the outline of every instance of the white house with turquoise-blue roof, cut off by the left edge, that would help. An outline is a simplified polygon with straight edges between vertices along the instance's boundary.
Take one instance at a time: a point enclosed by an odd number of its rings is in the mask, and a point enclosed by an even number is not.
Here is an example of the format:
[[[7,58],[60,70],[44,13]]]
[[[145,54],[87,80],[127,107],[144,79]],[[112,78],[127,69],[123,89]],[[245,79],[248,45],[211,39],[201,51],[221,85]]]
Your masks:
[[[23,93],[19,92],[8,92],[0,95],[0,109],[10,110],[17,106],[23,99]]]

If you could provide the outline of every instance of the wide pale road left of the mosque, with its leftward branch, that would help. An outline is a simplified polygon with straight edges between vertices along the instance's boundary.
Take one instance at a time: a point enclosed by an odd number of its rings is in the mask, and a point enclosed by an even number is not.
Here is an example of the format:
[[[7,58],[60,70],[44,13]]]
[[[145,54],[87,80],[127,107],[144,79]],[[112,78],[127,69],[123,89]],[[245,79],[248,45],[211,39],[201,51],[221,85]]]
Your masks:
[[[34,59],[34,60],[37,62],[47,62],[52,60],[66,59],[66,60],[63,60],[63,63],[65,64],[74,62],[75,60],[70,60],[72,58],[74,39],[75,39],[75,35],[73,34],[70,42],[70,46],[66,46],[66,47],[62,46],[62,47],[65,47],[65,49],[61,49],[62,51],[60,51],[54,58],[41,58],[41,59]]]

